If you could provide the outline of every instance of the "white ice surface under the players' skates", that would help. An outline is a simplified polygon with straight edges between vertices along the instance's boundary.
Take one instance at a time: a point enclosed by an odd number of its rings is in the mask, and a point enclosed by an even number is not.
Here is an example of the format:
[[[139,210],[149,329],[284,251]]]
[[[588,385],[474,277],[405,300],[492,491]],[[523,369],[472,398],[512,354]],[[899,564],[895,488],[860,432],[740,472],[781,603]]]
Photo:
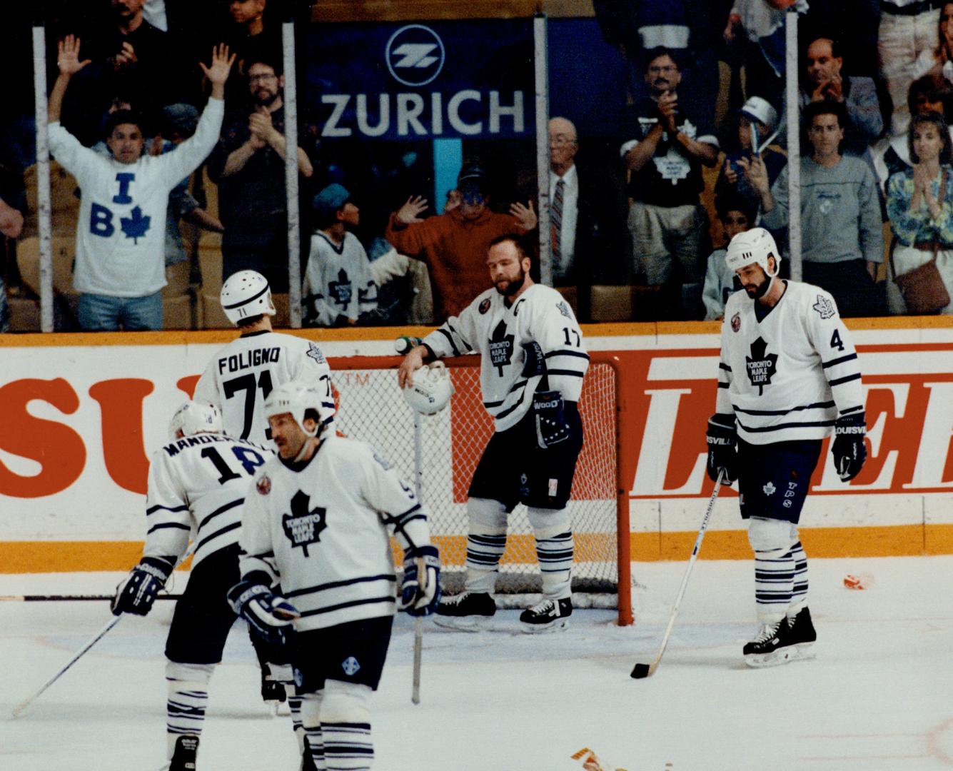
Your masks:
[[[752,670],[752,565],[700,561],[658,672],[684,563],[637,564],[636,625],[577,611],[564,632],[437,630],[411,694],[399,619],[375,696],[375,771],[559,771],[589,747],[626,771],[932,771],[953,768],[953,558],[813,559],[816,658]],[[865,591],[846,574],[869,574]],[[0,576],[0,595],[106,593],[118,574]],[[181,588],[184,578],[176,579]],[[19,720],[10,710],[109,620],[100,602],[0,602],[0,769],[149,771],[165,755],[162,650],[172,602],[128,617]],[[294,771],[290,720],[271,718],[243,627],[213,677],[199,771]]]

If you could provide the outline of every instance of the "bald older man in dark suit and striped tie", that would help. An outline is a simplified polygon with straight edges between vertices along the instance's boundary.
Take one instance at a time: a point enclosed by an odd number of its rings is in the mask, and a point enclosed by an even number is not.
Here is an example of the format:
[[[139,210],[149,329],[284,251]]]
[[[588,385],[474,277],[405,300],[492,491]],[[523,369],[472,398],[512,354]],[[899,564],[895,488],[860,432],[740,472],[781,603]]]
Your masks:
[[[589,318],[593,284],[626,278],[629,237],[625,201],[613,180],[580,171],[576,126],[556,117],[549,122],[549,200],[555,286],[577,286],[578,317]]]

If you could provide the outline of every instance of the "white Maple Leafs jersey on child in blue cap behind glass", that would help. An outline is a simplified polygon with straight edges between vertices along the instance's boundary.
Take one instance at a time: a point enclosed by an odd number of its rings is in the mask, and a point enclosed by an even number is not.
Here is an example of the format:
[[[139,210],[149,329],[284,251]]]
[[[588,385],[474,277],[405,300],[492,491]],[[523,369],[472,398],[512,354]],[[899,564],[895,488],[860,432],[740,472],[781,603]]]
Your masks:
[[[325,233],[311,236],[311,254],[301,289],[306,325],[330,327],[343,315],[356,321],[377,307],[377,289],[407,274],[410,258],[391,250],[372,262],[354,233],[335,244]]]

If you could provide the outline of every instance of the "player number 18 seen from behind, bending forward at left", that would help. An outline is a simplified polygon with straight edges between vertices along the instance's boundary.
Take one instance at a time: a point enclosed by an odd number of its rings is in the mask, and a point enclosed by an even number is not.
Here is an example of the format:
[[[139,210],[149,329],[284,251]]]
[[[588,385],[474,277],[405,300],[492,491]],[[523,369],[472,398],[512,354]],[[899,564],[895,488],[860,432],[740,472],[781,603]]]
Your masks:
[[[238,580],[238,535],[250,479],[274,453],[222,434],[211,404],[187,401],[172,416],[170,441],[152,455],[143,557],[112,599],[112,613],[145,616],[195,543],[192,575],[166,640],[171,771],[195,768],[209,680],[236,619],[226,592]]]

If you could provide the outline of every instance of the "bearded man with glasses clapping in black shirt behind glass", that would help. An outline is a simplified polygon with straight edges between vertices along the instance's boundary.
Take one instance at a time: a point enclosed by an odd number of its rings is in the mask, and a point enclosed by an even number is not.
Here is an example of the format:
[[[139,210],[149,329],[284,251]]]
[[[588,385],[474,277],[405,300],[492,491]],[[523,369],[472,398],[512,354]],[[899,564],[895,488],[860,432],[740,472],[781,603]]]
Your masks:
[[[223,132],[208,163],[225,226],[222,278],[250,269],[263,274],[273,292],[283,293],[288,292],[284,77],[275,64],[253,62],[248,84],[253,112],[237,117]],[[298,173],[310,177],[308,152],[301,146],[296,152]]]

